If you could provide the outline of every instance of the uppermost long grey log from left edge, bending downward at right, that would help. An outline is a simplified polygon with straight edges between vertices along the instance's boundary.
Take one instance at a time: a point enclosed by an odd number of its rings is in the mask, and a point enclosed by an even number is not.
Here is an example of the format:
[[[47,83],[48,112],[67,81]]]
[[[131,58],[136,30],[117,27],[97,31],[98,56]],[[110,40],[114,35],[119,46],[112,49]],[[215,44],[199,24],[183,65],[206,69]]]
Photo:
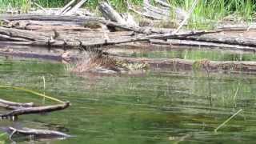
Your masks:
[[[81,17],[81,16],[65,16],[65,15],[38,15],[38,14],[0,14],[0,20],[8,21],[34,21],[31,24],[52,24],[52,25],[73,25],[84,26],[86,23],[102,23],[106,26],[117,27],[118,30],[131,30],[140,34],[164,34],[169,33],[172,30],[155,29],[150,27],[128,26],[127,24],[121,24],[118,22],[107,21],[103,18],[94,17]]]

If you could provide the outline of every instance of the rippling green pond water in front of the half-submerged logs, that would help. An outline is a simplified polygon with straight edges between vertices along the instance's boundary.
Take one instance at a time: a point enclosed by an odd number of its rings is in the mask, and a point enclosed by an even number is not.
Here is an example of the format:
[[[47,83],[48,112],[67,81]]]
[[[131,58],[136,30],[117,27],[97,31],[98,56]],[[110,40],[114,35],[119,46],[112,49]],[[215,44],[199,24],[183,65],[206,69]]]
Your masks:
[[[2,120],[0,127],[59,130],[74,137],[42,142],[14,138],[18,143],[254,143],[256,138],[254,75],[148,70],[78,76],[57,62],[0,58],[0,85],[26,87],[71,102],[66,110],[24,115],[17,122]],[[12,89],[0,89],[0,97],[52,103]]]

